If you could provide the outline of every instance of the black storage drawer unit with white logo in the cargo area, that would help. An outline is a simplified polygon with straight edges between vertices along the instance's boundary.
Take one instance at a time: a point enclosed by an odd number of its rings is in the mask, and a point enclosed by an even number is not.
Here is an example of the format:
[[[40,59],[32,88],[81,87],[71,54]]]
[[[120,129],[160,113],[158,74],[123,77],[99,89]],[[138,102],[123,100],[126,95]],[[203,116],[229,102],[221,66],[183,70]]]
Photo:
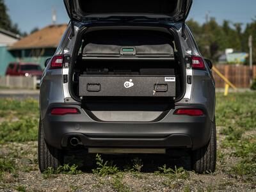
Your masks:
[[[79,76],[80,97],[175,97],[175,76]]]

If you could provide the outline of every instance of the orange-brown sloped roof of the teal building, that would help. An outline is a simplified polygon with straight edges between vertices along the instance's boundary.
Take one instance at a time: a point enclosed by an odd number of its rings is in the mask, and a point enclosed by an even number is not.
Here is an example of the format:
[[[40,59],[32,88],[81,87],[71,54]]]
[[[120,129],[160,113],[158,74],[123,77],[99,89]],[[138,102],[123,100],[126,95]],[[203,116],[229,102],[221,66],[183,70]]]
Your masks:
[[[10,47],[10,50],[56,48],[61,36],[67,29],[67,24],[47,26],[28,35]]]

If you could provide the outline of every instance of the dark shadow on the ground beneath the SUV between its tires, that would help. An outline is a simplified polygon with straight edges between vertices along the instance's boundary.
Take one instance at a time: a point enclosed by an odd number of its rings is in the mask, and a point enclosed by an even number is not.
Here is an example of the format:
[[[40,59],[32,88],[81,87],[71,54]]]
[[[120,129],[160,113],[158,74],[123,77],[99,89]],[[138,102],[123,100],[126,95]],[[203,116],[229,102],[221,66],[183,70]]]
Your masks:
[[[182,155],[182,156],[180,156]],[[154,173],[166,164],[168,168],[183,167],[191,171],[191,158],[188,152],[182,152],[177,156],[176,152],[169,154],[101,154],[104,162],[116,165],[118,170],[131,170],[134,164],[141,166],[140,172]],[[67,154],[65,164],[76,164],[84,173],[91,173],[96,166],[96,154],[86,154],[79,152],[76,154]]]

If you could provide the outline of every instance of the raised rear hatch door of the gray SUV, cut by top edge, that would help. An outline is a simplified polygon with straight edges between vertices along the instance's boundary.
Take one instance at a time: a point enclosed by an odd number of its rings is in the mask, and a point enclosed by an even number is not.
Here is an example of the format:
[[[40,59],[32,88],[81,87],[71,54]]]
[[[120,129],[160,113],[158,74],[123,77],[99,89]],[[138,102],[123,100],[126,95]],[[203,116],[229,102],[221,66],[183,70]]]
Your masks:
[[[106,19],[108,17],[145,17],[186,20],[193,0],[64,0],[71,20]]]

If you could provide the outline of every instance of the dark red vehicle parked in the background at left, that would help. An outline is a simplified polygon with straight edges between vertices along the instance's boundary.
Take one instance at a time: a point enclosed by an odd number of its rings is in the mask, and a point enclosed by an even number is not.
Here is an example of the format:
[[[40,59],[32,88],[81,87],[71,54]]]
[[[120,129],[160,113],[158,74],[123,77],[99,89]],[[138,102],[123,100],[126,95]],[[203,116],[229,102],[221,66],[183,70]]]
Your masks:
[[[36,87],[40,87],[43,71],[42,67],[35,63],[10,63],[6,68],[6,76],[36,76]]]

